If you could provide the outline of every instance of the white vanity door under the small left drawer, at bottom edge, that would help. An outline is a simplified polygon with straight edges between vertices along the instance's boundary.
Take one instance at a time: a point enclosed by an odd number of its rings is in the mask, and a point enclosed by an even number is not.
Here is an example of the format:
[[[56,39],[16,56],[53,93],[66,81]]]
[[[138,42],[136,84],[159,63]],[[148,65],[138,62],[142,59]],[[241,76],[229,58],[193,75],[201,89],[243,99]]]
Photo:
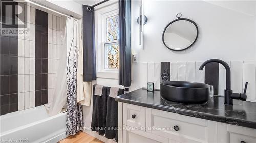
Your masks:
[[[168,139],[142,130],[133,130],[123,125],[123,143],[168,143]]]

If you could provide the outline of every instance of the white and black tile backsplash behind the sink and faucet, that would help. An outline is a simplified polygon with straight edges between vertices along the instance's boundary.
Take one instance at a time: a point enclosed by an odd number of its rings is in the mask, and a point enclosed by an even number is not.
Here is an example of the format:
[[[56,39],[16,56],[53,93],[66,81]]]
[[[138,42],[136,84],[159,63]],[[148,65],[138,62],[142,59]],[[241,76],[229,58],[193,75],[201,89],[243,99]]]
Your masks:
[[[224,95],[226,89],[226,70],[218,63],[210,63],[203,71],[199,70],[203,62],[151,62],[141,63],[142,87],[147,82],[153,82],[156,89],[160,89],[160,78],[164,69],[168,68],[171,81],[201,82],[214,86],[215,95]],[[231,69],[231,89],[236,93],[243,93],[245,82],[247,87],[247,101],[255,101],[255,65],[254,61],[226,61]],[[249,65],[248,65],[249,64]],[[245,66],[250,66],[245,68]]]

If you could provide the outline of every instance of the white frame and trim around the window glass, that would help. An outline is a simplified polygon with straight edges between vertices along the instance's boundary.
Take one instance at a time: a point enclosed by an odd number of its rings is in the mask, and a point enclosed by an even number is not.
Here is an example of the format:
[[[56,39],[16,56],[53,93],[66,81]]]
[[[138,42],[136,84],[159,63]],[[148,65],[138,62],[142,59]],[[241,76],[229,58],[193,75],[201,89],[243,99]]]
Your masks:
[[[97,78],[112,78],[118,79],[118,69],[105,69],[105,44],[115,43],[118,40],[111,42],[106,41],[106,18],[118,14],[118,1],[115,3],[95,10],[95,47],[96,47],[96,63],[97,63]],[[103,56],[104,55],[104,56]]]

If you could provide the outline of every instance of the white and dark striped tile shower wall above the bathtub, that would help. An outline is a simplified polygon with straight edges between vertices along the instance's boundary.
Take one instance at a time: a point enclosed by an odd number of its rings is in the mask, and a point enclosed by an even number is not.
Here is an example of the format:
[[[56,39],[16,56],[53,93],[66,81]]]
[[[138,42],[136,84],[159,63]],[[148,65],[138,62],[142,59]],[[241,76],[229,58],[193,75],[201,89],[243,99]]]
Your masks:
[[[1,36],[0,115],[52,101],[59,52],[63,45],[65,17],[37,10],[29,4],[19,5],[30,13],[28,16],[19,15],[27,22],[29,33]],[[45,27],[44,32],[41,27]],[[40,35],[45,37],[36,39]]]

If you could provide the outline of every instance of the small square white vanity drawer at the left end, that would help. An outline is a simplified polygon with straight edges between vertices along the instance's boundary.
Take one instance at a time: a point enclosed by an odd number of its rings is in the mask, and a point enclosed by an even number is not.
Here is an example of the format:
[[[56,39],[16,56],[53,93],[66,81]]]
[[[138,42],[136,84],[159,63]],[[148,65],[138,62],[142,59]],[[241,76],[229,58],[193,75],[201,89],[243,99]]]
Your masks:
[[[146,108],[124,103],[123,124],[145,130]]]

